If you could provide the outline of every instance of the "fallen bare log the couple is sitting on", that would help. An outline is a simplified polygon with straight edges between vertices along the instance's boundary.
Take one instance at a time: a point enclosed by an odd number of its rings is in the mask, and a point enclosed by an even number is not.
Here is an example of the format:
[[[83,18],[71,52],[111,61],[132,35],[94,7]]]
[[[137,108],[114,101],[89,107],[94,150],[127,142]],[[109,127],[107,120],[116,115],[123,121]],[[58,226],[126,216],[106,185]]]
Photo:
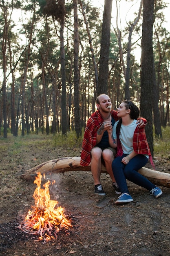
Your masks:
[[[91,171],[91,166],[81,166],[80,157],[61,157],[53,159],[38,166],[35,166],[20,175],[24,180],[33,180],[38,172],[43,174],[64,173],[66,171]],[[107,173],[106,168],[102,166],[102,173]],[[170,173],[163,173],[142,167],[139,173],[148,178],[157,186],[165,186],[170,188]]]

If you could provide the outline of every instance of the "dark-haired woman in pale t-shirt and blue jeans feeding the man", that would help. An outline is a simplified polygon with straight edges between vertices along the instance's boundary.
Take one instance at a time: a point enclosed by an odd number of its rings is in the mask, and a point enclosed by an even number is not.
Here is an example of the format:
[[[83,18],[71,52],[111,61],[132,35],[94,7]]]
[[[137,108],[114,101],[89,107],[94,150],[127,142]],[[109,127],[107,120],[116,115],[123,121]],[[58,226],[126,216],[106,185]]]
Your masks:
[[[124,100],[117,108],[117,117],[121,117],[110,129],[110,146],[117,147],[117,157],[112,162],[112,170],[121,191],[121,195],[115,204],[132,202],[129,194],[126,179],[144,187],[150,194],[158,198],[162,191],[152,184],[146,177],[138,173],[138,170],[145,166],[152,156],[146,139],[145,129],[138,128],[136,121],[139,117],[139,108],[132,102]]]

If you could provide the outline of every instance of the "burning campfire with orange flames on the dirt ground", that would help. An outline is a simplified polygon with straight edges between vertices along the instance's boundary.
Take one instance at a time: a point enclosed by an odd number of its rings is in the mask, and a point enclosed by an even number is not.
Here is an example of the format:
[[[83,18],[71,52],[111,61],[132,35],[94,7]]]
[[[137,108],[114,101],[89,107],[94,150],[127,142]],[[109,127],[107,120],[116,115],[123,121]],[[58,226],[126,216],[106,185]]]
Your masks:
[[[45,176],[44,176],[45,177]],[[29,210],[27,216],[20,223],[19,229],[27,234],[38,235],[39,240],[44,243],[57,238],[57,233],[65,228],[73,227],[71,220],[64,214],[64,208],[57,207],[58,202],[50,200],[49,185],[50,181],[46,182],[41,188],[41,173],[38,173],[34,180],[37,188],[33,193],[35,206],[32,206],[32,211]],[[52,184],[55,183],[55,180]]]

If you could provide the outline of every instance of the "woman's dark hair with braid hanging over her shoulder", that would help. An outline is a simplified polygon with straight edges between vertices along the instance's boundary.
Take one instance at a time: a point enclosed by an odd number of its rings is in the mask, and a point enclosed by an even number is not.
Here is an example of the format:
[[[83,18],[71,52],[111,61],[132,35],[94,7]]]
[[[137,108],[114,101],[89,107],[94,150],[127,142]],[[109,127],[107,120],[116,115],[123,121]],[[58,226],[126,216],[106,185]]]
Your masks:
[[[139,108],[132,102],[128,100],[122,101],[125,104],[125,108],[128,110],[130,109],[130,118],[131,119],[137,119],[139,117]],[[122,119],[119,120],[117,126],[116,126],[116,135],[117,139],[119,138],[119,133],[120,133],[120,127],[122,124]]]

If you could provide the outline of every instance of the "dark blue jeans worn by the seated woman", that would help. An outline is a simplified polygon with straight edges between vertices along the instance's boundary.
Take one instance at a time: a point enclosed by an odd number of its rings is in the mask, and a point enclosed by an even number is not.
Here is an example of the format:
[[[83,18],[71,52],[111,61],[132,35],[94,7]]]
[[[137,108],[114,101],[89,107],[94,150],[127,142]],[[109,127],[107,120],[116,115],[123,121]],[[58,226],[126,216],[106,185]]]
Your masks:
[[[126,157],[126,155],[123,154],[121,157],[116,157],[112,162],[113,174],[121,193],[129,194],[126,179],[137,184],[138,186],[148,189],[149,191],[156,187],[146,177],[138,173],[138,170],[145,166],[148,162],[146,156],[136,155],[129,161],[128,164],[123,164],[121,162],[123,157]]]

